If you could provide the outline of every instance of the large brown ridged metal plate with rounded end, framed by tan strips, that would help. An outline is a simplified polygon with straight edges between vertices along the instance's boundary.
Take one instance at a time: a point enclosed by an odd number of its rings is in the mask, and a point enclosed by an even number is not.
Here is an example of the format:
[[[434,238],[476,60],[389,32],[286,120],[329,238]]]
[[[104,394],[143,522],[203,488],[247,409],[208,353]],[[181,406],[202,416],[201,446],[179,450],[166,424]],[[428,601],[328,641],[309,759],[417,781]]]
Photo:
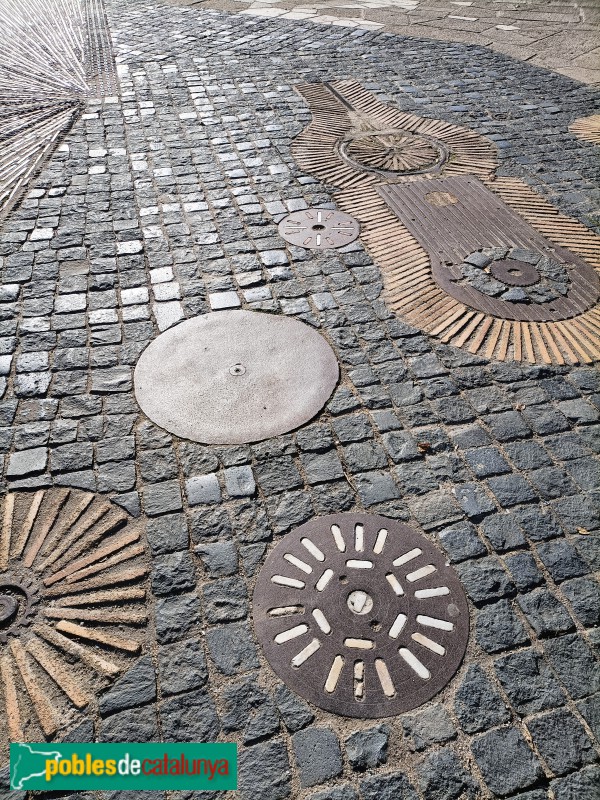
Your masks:
[[[582,314],[598,300],[600,282],[591,266],[552,244],[472,176],[383,185],[377,191],[426,250],[436,282],[477,311],[508,320],[560,321]],[[442,192],[456,202],[428,201],[428,195]],[[487,264],[475,263],[478,252],[491,256]],[[519,262],[517,271],[527,280],[535,277],[535,267],[539,280],[518,284],[527,285],[527,292],[510,292],[514,282],[498,284],[501,266],[490,274],[494,263],[501,265],[505,258]]]

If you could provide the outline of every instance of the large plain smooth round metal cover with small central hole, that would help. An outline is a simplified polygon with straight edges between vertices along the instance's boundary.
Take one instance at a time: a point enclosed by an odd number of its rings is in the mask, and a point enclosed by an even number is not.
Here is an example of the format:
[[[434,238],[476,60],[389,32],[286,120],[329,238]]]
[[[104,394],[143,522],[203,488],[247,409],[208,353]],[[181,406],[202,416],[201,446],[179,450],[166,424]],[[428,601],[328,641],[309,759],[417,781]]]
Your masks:
[[[296,319],[217,311],[155,339],[135,368],[142,411],[195,442],[257,442],[299,427],[339,376],[326,340]]]

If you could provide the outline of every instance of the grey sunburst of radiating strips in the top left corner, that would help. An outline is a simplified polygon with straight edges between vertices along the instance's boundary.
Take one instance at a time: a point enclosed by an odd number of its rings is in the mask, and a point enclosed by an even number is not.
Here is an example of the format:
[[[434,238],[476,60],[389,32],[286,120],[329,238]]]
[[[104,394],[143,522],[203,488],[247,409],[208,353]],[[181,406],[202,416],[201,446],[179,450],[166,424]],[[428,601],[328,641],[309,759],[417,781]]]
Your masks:
[[[117,80],[101,0],[0,0],[0,213]]]

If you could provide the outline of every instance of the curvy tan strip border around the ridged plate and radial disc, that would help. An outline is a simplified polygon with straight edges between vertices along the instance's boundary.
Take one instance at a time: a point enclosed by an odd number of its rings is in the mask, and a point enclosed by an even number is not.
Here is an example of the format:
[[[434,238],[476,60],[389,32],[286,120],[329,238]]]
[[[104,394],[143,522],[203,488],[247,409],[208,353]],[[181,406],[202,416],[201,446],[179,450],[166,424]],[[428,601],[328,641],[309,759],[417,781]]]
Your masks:
[[[360,222],[362,241],[382,271],[384,296],[392,310],[443,342],[486,358],[559,365],[589,364],[600,358],[600,311],[594,305],[597,278],[593,274],[594,269],[600,268],[597,236],[576,220],[560,214],[522,181],[496,178],[495,151],[491,143],[475,133],[389,108],[354,81],[303,84],[299,91],[309,102],[313,121],[296,139],[294,156],[307,172],[342,189],[336,196],[338,206]],[[404,172],[392,176],[364,166],[351,166],[343,157],[344,142],[352,140],[357,130],[367,127],[375,130],[377,124],[388,131],[400,131],[405,126],[407,130],[434,136],[439,148],[446,149],[447,157],[427,174]],[[430,223],[436,209],[455,208],[455,195],[441,182],[459,176],[478,179],[483,191],[493,192],[491,197],[498,195],[535,229],[530,232],[532,238],[538,233],[545,237],[545,244],[539,237],[542,248],[565,248],[561,260],[578,264],[589,278],[591,294],[581,299],[581,307],[563,309],[558,319],[552,320],[544,319],[541,312],[530,311],[525,317],[520,315],[522,318],[515,319],[514,314],[507,318],[491,308],[489,302],[485,309],[481,304],[470,305],[456,291],[449,293],[440,285],[423,242],[405,224],[409,220],[401,220],[389,206],[389,198],[384,199],[383,195],[409,191],[410,187],[416,191],[415,182],[419,181],[423,187],[426,179]],[[437,180],[440,185],[435,183]],[[435,231],[435,225],[431,228]],[[484,249],[486,243],[503,244],[486,240],[479,247],[469,247],[461,258],[473,250]],[[513,244],[517,243],[507,241],[507,249]],[[523,247],[527,249],[526,245]],[[444,249],[442,242],[434,248],[436,252],[440,249]],[[484,296],[485,293],[479,293],[482,303]]]

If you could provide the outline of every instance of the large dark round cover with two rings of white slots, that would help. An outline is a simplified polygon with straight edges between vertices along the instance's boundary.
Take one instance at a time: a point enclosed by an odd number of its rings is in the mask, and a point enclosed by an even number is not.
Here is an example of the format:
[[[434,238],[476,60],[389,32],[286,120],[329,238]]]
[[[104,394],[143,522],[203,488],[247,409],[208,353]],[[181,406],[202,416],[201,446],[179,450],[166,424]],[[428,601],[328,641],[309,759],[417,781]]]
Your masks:
[[[469,636],[464,590],[444,555],[376,514],[332,514],[272,550],[254,626],[294,691],[348,717],[400,714],[454,675]]]

